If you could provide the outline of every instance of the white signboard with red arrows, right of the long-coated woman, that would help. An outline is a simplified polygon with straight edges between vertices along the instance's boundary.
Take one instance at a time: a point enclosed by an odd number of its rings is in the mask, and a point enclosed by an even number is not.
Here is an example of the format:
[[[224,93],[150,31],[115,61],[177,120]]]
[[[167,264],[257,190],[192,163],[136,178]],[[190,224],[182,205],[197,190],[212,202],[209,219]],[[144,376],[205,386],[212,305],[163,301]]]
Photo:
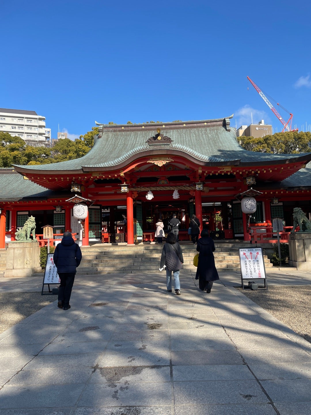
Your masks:
[[[243,289],[243,280],[263,280],[265,283],[264,287],[267,288],[262,248],[239,248],[239,257]]]

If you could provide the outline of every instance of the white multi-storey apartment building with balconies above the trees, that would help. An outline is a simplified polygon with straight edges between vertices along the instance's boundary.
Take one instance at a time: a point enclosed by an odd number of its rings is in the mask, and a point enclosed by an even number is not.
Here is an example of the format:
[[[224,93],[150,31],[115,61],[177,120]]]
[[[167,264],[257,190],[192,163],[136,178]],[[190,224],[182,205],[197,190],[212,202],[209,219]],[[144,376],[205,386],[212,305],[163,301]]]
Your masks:
[[[46,145],[45,117],[35,111],[0,108],[0,131],[21,137],[31,146]]]

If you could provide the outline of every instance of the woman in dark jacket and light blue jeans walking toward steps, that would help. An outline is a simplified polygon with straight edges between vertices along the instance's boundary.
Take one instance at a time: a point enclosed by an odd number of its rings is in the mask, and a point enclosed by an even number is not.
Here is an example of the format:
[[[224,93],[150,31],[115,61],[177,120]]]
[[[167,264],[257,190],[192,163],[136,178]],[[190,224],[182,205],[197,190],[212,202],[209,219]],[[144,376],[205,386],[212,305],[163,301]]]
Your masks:
[[[169,293],[172,292],[172,271],[174,276],[174,287],[176,295],[180,295],[179,272],[184,262],[180,244],[176,242],[175,235],[170,232],[162,249],[160,268],[165,265],[166,287]]]

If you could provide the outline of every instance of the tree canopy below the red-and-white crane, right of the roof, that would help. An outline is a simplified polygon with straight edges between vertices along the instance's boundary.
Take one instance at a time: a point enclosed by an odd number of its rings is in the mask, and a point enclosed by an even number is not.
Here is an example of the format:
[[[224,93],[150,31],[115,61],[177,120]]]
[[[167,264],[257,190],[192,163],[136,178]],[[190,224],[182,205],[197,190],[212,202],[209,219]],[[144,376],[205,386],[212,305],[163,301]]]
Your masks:
[[[299,154],[311,152],[311,133],[287,131],[265,137],[238,137],[241,146],[249,151],[272,154]]]

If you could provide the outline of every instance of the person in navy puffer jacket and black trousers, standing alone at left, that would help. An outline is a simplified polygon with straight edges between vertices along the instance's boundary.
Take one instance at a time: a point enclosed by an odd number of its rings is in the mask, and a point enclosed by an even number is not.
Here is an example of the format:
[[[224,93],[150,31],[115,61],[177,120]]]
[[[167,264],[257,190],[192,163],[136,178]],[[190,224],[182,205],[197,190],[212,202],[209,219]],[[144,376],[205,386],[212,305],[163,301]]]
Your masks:
[[[64,232],[63,239],[60,244],[56,245],[53,255],[54,264],[61,279],[61,285],[58,287],[58,308],[63,310],[70,308],[71,290],[81,259],[82,253],[79,245],[75,244],[70,232]]]

